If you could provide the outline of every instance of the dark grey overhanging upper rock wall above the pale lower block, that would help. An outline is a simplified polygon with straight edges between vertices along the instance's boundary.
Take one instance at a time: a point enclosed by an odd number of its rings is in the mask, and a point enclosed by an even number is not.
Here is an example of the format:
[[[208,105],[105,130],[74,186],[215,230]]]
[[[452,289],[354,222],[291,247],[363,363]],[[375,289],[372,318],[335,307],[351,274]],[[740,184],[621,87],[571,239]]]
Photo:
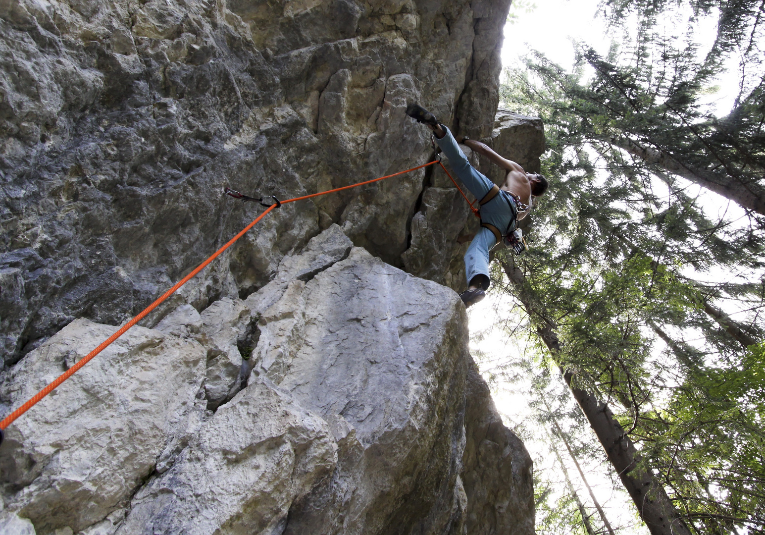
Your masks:
[[[508,5],[0,2],[6,365],[74,318],[135,315],[244,227],[260,208],[223,197],[225,184],[287,198],[425,163],[429,131],[404,114],[412,100],[490,137]],[[458,289],[443,242],[459,223],[443,233],[412,222],[434,210],[467,217],[453,192],[424,191],[431,175],[285,205],[157,317],[249,295],[331,223],[373,256]],[[404,261],[415,240],[431,247]],[[421,267],[433,246],[445,261]]]

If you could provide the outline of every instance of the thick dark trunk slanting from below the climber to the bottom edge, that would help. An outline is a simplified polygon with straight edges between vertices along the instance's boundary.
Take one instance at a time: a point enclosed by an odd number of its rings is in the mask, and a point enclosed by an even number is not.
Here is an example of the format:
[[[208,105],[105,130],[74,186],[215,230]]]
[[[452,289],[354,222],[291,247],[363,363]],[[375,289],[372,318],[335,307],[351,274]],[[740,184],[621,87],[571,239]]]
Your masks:
[[[510,282],[513,282],[519,290],[518,297],[526,308],[526,312],[532,321],[538,324],[537,334],[555,357],[562,347],[558,334],[555,332],[557,327],[555,321],[539,307],[539,303],[526,285],[526,276],[523,272],[508,261],[504,261],[502,266]],[[570,371],[562,371],[563,378],[579,404],[581,412],[590,422],[609,462],[614,466],[624,488],[632,497],[640,518],[645,522],[651,535],[691,535],[662,484],[653,478],[649,470],[638,465],[640,456],[637,455],[635,445],[614,418],[614,413],[611,413],[607,404],[599,403],[594,395],[575,387],[572,382],[573,374]]]

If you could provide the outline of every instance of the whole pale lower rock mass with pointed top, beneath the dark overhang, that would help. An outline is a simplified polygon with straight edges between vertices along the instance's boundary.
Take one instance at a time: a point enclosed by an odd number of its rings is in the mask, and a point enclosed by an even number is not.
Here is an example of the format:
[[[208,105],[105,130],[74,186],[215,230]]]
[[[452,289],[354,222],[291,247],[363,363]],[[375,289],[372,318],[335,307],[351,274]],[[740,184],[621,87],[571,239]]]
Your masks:
[[[2,402],[114,330],[73,321],[5,374]],[[531,461],[467,341],[456,293],[332,225],[245,300],[133,328],[11,424],[0,526],[531,534]]]

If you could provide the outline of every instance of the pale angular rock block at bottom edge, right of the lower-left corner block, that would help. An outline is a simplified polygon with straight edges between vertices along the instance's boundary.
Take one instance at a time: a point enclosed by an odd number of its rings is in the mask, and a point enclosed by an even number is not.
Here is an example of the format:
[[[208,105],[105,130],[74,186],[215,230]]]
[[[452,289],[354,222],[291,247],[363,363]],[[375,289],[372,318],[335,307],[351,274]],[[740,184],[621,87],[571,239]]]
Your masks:
[[[116,533],[282,533],[293,501],[336,462],[327,422],[258,378],[135,494]]]

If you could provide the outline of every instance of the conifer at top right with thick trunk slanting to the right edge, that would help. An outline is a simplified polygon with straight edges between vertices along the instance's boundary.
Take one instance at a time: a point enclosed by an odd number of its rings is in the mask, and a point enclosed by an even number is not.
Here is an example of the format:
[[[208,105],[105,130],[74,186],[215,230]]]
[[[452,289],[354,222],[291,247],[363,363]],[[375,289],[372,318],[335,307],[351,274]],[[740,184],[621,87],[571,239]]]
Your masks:
[[[692,26],[682,39],[656,29],[659,19],[666,24],[674,18],[682,25],[688,12],[693,22],[715,7],[718,36],[704,57],[699,57],[701,36]],[[529,71],[546,90],[534,97],[546,99],[554,114],[565,117],[568,129],[577,129],[600,152],[626,153],[632,165],[681,176],[765,214],[762,2],[614,0],[605,11],[614,25],[623,24],[630,11],[640,15],[634,44],[615,44],[607,57],[579,44],[574,73],[541,56],[529,60]],[[740,90],[731,113],[718,118],[701,97],[713,89],[734,51],[741,55]],[[585,65],[594,76],[581,83]]]

